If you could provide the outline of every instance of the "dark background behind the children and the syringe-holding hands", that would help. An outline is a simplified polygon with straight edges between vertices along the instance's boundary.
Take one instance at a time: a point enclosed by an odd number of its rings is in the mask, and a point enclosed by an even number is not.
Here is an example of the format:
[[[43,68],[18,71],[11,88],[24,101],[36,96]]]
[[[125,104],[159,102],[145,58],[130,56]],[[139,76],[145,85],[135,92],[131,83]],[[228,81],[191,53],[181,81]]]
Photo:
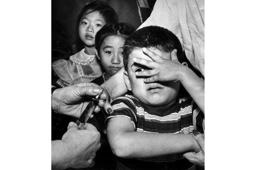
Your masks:
[[[76,19],[87,2],[94,0],[53,0],[52,1],[52,62],[65,59],[84,48],[79,37],[76,37]],[[126,22],[137,29],[141,24],[137,0],[101,0],[115,9],[119,22]],[[151,14],[156,0],[148,0],[148,8],[140,8],[142,21]],[[59,87],[59,78],[52,70],[52,85]],[[60,88],[60,87],[59,87]],[[52,140],[60,140],[66,132],[68,123],[73,120],[66,115],[52,112]]]

